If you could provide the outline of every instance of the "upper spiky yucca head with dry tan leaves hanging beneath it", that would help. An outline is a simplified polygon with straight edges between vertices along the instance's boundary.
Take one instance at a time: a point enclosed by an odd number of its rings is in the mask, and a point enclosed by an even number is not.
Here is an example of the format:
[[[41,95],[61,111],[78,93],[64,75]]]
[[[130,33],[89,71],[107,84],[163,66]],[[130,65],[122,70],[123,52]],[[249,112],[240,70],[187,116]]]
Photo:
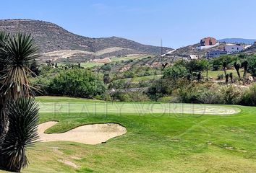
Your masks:
[[[1,93],[9,98],[30,96],[30,85],[27,74],[30,74],[30,63],[38,58],[38,47],[31,35],[17,33],[10,36],[4,48],[0,49],[0,63],[4,64],[1,76]]]

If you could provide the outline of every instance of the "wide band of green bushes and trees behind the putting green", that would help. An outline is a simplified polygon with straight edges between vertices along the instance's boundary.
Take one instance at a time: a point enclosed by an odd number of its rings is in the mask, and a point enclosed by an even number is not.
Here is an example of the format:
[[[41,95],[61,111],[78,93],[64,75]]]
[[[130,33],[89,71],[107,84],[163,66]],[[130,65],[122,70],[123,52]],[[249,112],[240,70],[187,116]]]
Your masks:
[[[178,60],[164,68],[136,66],[136,63],[116,68],[120,62],[111,62],[89,70],[79,64],[66,64],[65,68],[56,64],[40,68],[34,65],[32,69],[39,75],[31,81],[47,95],[125,102],[255,105],[252,101],[255,99],[252,89],[255,60],[256,56],[221,56],[209,60]]]

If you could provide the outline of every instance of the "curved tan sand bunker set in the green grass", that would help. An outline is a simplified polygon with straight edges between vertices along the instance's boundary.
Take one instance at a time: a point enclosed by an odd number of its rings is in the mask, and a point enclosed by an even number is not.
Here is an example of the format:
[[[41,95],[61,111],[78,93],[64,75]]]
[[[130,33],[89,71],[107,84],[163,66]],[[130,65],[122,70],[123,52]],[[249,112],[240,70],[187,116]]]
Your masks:
[[[82,125],[65,133],[44,133],[46,129],[56,125],[56,121],[49,121],[38,125],[40,141],[72,141],[85,144],[98,144],[110,138],[127,133],[127,129],[116,123]]]

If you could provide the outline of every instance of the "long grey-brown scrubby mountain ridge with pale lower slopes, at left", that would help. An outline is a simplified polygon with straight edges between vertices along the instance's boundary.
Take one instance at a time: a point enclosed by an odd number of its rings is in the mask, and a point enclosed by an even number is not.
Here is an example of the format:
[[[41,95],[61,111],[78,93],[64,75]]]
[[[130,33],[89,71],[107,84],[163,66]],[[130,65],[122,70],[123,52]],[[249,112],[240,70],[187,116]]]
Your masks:
[[[31,19],[1,19],[0,30],[7,32],[26,32],[35,37],[40,52],[46,59],[105,58],[128,54],[153,54],[172,50],[152,45],[142,45],[121,37],[91,38],[75,35],[51,23]]]

